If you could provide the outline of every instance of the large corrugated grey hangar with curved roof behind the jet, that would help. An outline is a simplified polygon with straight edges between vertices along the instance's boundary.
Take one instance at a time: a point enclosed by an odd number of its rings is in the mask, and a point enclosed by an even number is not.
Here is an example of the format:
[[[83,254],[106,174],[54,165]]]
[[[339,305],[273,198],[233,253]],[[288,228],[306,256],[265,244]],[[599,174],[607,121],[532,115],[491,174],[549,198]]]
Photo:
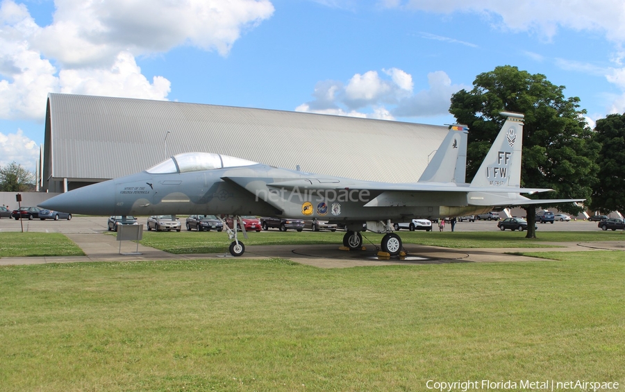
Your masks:
[[[40,189],[68,191],[195,151],[331,176],[416,182],[447,132],[447,126],[326,114],[49,94]]]

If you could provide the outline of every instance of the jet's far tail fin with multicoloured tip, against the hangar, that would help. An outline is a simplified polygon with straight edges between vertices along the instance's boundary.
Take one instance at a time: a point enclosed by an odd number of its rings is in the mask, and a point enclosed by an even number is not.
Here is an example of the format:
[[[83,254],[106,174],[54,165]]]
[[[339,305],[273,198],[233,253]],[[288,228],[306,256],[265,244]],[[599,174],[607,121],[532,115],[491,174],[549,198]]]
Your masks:
[[[465,183],[468,133],[467,126],[451,126],[419,182]]]

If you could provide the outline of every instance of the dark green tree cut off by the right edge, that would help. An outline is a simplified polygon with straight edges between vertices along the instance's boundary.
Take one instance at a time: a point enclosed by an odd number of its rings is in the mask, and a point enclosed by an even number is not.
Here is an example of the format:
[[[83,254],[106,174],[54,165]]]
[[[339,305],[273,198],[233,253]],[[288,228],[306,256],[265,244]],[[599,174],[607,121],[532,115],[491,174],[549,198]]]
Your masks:
[[[625,212],[625,114],[597,120],[594,131],[594,141],[601,144],[597,157],[601,181],[594,187],[590,206],[604,214]]]

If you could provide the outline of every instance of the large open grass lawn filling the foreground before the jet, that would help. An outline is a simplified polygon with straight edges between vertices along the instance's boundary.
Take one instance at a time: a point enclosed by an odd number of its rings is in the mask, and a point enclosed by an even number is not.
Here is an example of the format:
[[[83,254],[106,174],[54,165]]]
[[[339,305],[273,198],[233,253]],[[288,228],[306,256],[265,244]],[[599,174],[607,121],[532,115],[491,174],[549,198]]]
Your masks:
[[[352,269],[238,258],[1,267],[0,389],[625,382],[623,253],[549,257]]]

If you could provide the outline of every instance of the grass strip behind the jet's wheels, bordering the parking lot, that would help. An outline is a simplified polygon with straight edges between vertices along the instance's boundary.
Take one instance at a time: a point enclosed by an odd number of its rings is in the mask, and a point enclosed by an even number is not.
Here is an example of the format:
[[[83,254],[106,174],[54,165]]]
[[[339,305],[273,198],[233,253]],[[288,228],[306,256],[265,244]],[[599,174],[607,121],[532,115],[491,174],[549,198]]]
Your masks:
[[[345,232],[249,232],[248,239],[239,239],[247,245],[281,244],[342,244]],[[399,231],[406,244],[443,246],[446,248],[544,248],[553,241],[623,241],[625,232],[538,232],[537,239],[526,239],[525,232],[409,232]],[[382,235],[366,232],[365,246],[379,246]],[[230,241],[224,232],[143,232],[142,245],[181,255],[185,253],[223,253]]]

